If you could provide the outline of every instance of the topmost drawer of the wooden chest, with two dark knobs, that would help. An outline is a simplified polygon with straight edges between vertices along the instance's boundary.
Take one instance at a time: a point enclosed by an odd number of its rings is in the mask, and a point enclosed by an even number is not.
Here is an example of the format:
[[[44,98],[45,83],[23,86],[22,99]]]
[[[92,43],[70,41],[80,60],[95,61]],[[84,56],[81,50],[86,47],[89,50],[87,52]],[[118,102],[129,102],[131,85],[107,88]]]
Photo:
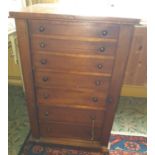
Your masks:
[[[30,34],[71,36],[84,38],[117,38],[119,26],[103,22],[62,22],[30,20]],[[73,38],[74,39],[74,38]]]

